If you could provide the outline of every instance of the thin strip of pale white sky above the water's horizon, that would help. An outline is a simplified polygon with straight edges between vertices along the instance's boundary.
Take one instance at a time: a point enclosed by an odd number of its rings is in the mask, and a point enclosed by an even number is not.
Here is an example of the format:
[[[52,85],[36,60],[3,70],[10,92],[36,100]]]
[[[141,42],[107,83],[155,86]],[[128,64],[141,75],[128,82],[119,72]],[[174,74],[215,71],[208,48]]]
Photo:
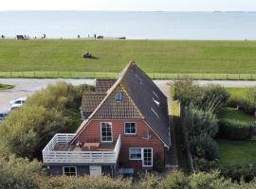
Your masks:
[[[0,0],[0,10],[255,11],[256,0]]]

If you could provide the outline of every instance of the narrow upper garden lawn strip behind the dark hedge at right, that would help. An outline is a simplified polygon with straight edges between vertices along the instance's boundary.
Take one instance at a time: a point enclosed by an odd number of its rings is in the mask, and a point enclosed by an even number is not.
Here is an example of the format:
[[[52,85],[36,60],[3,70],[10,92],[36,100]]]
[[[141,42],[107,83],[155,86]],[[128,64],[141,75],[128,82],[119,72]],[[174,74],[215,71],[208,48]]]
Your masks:
[[[245,112],[238,111],[235,108],[223,108],[219,114],[218,118],[221,120],[238,120],[238,121],[256,121],[256,118],[252,115],[248,115]]]

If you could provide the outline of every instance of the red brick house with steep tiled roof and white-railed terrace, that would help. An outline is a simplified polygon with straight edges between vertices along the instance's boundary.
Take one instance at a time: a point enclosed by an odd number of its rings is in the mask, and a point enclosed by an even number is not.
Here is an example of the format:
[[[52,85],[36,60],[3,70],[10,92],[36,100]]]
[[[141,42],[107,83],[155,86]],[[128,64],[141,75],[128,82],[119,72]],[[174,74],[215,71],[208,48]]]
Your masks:
[[[116,175],[152,170],[171,147],[167,98],[135,62],[117,79],[97,79],[82,97],[82,125],[43,150],[50,175]]]

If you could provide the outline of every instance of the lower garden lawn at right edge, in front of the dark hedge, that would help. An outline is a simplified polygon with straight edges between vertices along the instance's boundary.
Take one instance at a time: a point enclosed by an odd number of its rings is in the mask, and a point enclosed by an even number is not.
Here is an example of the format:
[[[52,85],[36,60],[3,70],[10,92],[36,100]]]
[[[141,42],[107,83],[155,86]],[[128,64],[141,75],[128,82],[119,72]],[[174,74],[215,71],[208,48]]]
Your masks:
[[[220,165],[247,165],[256,163],[256,141],[217,141],[220,151]]]

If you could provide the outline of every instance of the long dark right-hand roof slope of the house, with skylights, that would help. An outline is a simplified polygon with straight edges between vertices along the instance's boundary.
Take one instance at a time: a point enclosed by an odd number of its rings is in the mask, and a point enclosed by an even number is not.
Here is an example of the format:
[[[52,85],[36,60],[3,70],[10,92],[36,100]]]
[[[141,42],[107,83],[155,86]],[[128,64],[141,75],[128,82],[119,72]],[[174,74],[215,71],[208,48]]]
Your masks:
[[[131,64],[120,82],[144,120],[166,145],[171,146],[167,97],[135,63]]]

